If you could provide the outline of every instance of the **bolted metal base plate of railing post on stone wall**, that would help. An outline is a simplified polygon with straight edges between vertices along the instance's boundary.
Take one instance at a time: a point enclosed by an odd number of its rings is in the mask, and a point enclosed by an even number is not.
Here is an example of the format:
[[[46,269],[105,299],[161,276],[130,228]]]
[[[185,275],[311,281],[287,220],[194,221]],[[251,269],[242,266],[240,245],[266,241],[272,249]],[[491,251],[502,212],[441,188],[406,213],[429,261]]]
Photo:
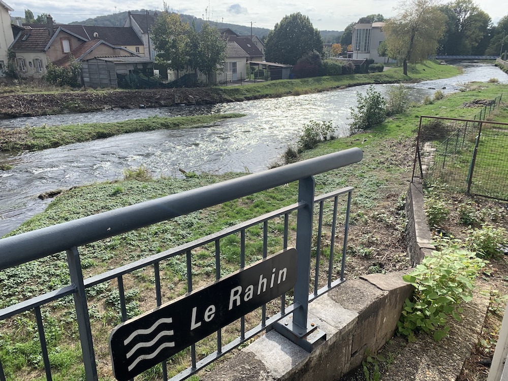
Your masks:
[[[309,353],[326,341],[326,332],[319,325],[309,322],[307,328],[300,327],[293,323],[291,315],[275,323],[273,329]]]

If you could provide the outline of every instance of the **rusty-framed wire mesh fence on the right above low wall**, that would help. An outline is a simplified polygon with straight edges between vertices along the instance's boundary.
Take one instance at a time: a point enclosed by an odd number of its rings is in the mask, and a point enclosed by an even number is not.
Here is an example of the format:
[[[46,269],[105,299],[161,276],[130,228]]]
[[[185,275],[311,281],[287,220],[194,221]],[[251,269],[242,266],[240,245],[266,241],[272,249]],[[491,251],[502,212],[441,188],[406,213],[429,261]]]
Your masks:
[[[473,119],[422,116],[413,180],[508,200],[508,123],[486,120],[500,102],[486,101]]]

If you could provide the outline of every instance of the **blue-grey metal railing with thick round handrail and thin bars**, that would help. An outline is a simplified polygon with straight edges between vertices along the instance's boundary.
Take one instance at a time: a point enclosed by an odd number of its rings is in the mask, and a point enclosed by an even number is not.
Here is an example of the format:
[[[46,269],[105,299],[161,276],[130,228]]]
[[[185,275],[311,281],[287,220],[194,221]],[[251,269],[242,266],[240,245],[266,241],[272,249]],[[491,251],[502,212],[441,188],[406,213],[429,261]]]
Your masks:
[[[324,173],[333,169],[357,163],[362,159],[363,153],[358,148],[347,149],[344,151],[316,157],[303,162],[271,169],[258,174],[251,174],[244,177],[204,186],[155,199],[140,204],[127,206],[96,215],[80,218],[68,223],[63,223],[48,228],[23,233],[20,235],[0,239],[0,271],[9,269],[30,261],[39,260],[65,251],[67,253],[67,263],[70,275],[70,284],[33,297],[31,299],[15,303],[3,309],[0,309],[0,321],[17,316],[26,311],[34,311],[37,322],[37,331],[41,343],[42,362],[46,379],[52,379],[52,364],[50,361],[49,350],[44,330],[44,319],[41,313],[41,307],[49,305],[53,301],[61,300],[72,295],[74,298],[74,309],[76,314],[77,326],[79,331],[79,340],[84,365],[84,373],[87,380],[97,380],[97,360],[94,349],[94,340],[98,340],[92,332],[89,310],[87,305],[86,291],[100,284],[116,280],[119,295],[119,313],[121,321],[128,320],[128,308],[125,297],[124,278],[133,274],[137,270],[152,268],[153,284],[155,291],[156,306],[163,303],[163,293],[161,285],[161,262],[172,258],[181,258],[181,263],[185,263],[186,292],[190,293],[196,287],[193,282],[193,256],[202,252],[204,247],[212,246],[215,259],[215,279],[221,277],[221,242],[226,237],[239,235],[240,238],[240,263],[239,268],[246,266],[246,231],[255,226],[262,226],[262,257],[268,255],[269,223],[275,219],[283,220],[283,248],[287,248],[290,241],[296,243],[298,252],[297,259],[297,281],[293,290],[293,303],[291,298],[285,295],[281,297],[278,311],[274,310],[273,305],[262,306],[261,321],[259,324],[247,328],[245,316],[240,319],[238,331],[239,336],[227,344],[223,345],[222,330],[219,329],[216,334],[216,350],[211,354],[197,355],[196,344],[190,349],[190,364],[186,370],[173,376],[171,380],[181,380],[189,377],[210,364],[218,357],[223,356],[233,348],[239,346],[253,336],[272,327],[278,320],[293,313],[294,329],[306,330],[307,327],[307,309],[309,301],[326,293],[331,288],[344,281],[345,250],[348,230],[348,216],[351,206],[351,195],[353,188],[347,187],[336,190],[319,197],[314,197],[314,178],[313,175]],[[204,236],[189,243],[181,244],[172,249],[162,251],[155,255],[142,258],[138,261],[108,270],[101,274],[93,275],[88,278],[83,277],[79,247],[85,244],[104,240],[118,234],[129,232],[145,226],[156,224],[160,221],[169,220],[177,216],[182,216],[193,211],[198,211],[214,205],[218,205],[230,200],[235,200],[244,196],[252,195],[275,186],[287,184],[293,181],[299,181],[298,202],[283,207],[281,209],[269,212],[262,216],[252,218],[232,227],[226,228],[220,232]],[[338,215],[339,215],[339,197],[347,196],[345,201],[345,213],[343,220],[343,233],[337,233]],[[325,212],[327,200],[333,205],[331,213]],[[319,211],[314,212],[314,203],[319,204]],[[296,212],[296,236],[290,228],[290,219],[292,213]],[[324,214],[331,219],[331,223],[325,221]],[[313,221],[317,216],[317,223]],[[292,223],[293,225],[293,223]],[[330,227],[329,251],[325,254],[328,261],[323,261],[324,239],[323,231]],[[316,232],[317,231],[317,232]],[[335,256],[335,240],[342,235],[342,255]],[[315,243],[313,238],[316,237]],[[315,251],[312,247],[315,244]],[[315,253],[314,268],[311,266],[311,257]],[[327,263],[326,263],[327,262]],[[338,269],[338,270],[337,270]],[[338,277],[334,274],[338,273]],[[326,275],[326,277],[323,276]],[[314,277],[313,284],[309,278]],[[320,280],[321,279],[321,280]],[[324,284],[323,284],[324,283]],[[322,287],[321,287],[322,286]],[[309,291],[312,292],[309,294]],[[145,311],[142,311],[145,312]],[[249,322],[249,326],[252,323]],[[307,330],[308,332],[308,330]],[[296,337],[298,336],[298,337]],[[296,342],[305,347],[305,334],[295,333]],[[102,357],[104,362],[104,357]],[[0,380],[6,381],[5,363],[0,358]],[[162,377],[168,379],[166,362],[162,363]]]

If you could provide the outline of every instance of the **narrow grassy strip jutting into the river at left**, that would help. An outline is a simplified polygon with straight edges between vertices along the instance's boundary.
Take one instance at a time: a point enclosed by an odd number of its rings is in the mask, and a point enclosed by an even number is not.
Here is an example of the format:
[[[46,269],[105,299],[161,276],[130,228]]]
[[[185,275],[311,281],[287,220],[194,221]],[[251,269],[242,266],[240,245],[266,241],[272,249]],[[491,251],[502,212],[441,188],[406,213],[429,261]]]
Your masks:
[[[59,147],[65,144],[104,139],[132,132],[176,130],[204,127],[220,120],[239,118],[243,114],[212,114],[203,116],[160,117],[131,119],[108,123],[82,123],[41,126],[21,129],[0,129],[0,151],[31,150]]]

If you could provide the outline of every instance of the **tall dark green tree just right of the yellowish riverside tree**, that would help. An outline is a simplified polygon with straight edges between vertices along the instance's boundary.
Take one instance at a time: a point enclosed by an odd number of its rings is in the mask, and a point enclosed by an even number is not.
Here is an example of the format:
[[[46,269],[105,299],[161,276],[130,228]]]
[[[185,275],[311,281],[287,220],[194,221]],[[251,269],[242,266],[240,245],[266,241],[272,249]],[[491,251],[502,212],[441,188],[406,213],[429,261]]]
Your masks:
[[[444,54],[471,54],[488,34],[490,16],[474,5],[472,0],[455,0],[440,8],[446,15],[446,30],[441,44]],[[485,46],[483,51],[485,51]]]

